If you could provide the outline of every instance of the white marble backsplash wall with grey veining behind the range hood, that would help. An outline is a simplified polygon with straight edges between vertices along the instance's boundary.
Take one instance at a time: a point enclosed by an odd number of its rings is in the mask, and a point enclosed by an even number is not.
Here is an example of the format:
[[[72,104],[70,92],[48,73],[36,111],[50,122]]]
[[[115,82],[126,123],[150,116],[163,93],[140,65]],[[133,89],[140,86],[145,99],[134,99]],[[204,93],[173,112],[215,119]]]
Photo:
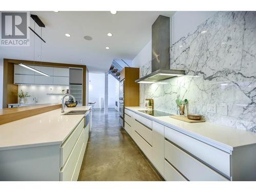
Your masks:
[[[140,84],[140,105],[177,113],[175,99],[188,99],[188,112],[206,121],[256,132],[256,12],[217,12],[170,47],[170,68],[186,71],[153,84]],[[140,76],[151,73],[151,62]],[[217,113],[207,113],[216,104]],[[221,104],[228,115],[221,115]]]

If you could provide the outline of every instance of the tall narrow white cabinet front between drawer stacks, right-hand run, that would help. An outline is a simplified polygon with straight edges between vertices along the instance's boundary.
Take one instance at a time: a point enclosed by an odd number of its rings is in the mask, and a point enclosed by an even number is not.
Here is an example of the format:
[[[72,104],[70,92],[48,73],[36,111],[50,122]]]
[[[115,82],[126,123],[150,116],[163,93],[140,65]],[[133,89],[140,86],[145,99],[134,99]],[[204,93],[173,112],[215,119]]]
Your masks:
[[[164,126],[153,121],[152,161],[159,173],[164,175]]]

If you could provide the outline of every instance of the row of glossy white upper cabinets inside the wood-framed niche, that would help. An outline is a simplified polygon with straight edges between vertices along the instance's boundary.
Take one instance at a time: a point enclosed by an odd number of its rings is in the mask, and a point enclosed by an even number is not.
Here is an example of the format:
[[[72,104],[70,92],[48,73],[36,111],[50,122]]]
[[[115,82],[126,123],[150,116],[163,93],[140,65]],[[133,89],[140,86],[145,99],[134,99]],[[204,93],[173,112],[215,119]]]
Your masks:
[[[46,73],[41,75],[19,65],[14,65],[14,84],[46,84],[46,85],[69,85],[69,68],[55,68],[44,66],[30,66],[38,71]]]

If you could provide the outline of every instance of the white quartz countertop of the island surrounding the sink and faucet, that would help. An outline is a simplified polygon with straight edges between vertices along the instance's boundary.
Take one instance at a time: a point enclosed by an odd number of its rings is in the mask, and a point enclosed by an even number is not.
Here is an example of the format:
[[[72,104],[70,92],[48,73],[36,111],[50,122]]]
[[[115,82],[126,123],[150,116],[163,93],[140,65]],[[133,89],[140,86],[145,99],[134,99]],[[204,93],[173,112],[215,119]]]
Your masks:
[[[65,112],[90,110],[91,106],[65,108]],[[84,115],[62,115],[61,109],[0,125],[0,151],[61,144]]]

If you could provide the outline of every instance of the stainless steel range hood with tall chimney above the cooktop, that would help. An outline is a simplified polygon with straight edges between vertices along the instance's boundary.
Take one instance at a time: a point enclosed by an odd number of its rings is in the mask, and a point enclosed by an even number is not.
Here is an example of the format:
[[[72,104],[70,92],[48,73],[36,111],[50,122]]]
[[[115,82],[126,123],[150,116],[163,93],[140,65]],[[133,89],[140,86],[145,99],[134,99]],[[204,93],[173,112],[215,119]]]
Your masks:
[[[137,79],[138,83],[154,83],[185,75],[183,70],[170,69],[170,18],[159,15],[152,25],[152,73]]]

